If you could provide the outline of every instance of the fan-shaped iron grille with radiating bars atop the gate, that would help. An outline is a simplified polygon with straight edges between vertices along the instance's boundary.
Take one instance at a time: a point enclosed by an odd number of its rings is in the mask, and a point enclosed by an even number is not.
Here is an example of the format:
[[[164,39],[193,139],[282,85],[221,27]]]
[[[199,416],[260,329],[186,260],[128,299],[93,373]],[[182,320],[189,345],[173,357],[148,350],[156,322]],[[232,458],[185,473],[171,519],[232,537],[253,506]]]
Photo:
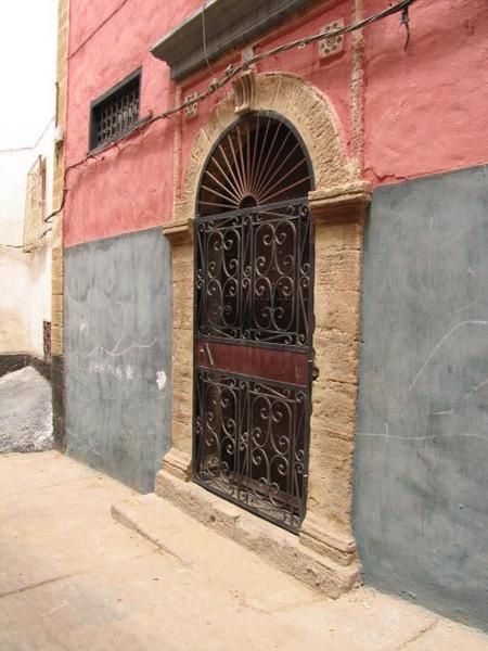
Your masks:
[[[311,169],[293,129],[267,114],[235,125],[214,148],[198,194],[200,215],[307,196]]]

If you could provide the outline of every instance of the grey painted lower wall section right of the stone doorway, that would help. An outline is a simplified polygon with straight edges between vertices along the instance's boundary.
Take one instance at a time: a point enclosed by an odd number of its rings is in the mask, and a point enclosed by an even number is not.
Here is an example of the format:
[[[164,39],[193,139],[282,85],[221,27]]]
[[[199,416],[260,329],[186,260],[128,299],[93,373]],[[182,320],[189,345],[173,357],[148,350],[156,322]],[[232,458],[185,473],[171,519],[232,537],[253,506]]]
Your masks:
[[[374,193],[355,533],[365,580],[488,627],[488,167]]]

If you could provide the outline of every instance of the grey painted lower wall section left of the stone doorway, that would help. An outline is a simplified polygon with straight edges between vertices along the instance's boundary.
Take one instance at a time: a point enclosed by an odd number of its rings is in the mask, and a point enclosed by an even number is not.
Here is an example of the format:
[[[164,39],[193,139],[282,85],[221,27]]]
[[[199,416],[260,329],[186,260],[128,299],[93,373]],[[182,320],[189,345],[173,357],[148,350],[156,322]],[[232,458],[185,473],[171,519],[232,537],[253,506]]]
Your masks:
[[[67,451],[142,493],[170,444],[170,273],[160,229],[65,251]]]

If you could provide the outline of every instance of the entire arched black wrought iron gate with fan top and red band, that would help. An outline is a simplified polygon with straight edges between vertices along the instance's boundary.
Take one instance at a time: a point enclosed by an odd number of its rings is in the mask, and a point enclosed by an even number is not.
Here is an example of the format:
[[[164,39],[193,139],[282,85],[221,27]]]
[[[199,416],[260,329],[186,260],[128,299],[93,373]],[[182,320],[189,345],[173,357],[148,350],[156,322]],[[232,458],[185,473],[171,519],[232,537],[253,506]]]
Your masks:
[[[291,126],[252,114],[214,148],[195,219],[193,478],[292,531],[307,487],[311,183]]]

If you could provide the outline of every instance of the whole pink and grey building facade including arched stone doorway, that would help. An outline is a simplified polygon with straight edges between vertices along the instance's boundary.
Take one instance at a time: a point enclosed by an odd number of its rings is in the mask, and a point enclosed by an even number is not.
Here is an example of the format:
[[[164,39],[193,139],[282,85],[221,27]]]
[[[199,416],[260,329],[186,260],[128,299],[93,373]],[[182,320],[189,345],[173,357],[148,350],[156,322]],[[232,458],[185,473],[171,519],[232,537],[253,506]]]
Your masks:
[[[483,1],[60,12],[60,445],[486,625]]]

